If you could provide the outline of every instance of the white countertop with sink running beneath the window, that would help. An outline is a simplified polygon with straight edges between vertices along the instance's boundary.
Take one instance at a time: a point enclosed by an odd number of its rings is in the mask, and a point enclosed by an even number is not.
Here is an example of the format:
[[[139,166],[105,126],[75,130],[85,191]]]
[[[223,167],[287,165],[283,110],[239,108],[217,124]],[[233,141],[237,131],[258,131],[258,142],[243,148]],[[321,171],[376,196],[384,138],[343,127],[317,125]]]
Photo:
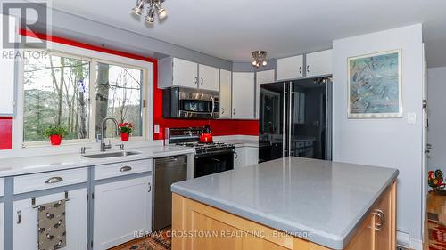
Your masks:
[[[107,152],[116,151],[119,150],[107,150]],[[169,157],[194,153],[193,149],[186,149],[175,146],[141,147],[136,149],[126,149],[126,151],[138,151],[141,152],[141,154],[136,156],[110,157],[101,159],[83,157],[79,153],[58,154],[39,157],[4,158],[0,159],[0,178],[13,175],[64,170],[89,165],[104,165],[138,159]],[[89,152],[87,155],[95,153],[99,152]]]

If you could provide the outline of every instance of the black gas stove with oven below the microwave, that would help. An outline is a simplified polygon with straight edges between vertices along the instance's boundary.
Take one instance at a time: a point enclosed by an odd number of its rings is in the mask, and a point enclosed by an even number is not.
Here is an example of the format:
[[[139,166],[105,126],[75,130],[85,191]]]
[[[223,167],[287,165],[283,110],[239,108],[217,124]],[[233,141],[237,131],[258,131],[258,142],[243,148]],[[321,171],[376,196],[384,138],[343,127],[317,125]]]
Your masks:
[[[169,128],[166,144],[194,149],[194,178],[234,169],[235,145],[224,142],[200,143],[202,133],[209,127]]]

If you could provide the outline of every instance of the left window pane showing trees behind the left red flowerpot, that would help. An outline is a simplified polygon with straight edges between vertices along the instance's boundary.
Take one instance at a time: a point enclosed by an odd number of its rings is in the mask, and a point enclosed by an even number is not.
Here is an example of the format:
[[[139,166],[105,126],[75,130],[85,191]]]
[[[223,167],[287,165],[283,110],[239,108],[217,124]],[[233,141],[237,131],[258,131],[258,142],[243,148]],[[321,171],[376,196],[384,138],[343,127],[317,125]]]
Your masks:
[[[62,125],[66,140],[88,138],[90,63],[49,55],[24,61],[23,141],[45,141],[48,126]]]

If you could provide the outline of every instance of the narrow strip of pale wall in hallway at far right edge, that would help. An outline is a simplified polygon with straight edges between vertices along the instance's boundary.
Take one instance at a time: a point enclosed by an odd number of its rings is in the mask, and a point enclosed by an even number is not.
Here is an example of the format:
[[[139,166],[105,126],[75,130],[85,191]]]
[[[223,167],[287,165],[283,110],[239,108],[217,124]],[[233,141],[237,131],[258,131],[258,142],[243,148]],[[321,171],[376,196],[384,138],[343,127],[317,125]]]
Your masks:
[[[446,173],[446,67],[427,70],[429,128],[427,141],[432,144],[428,169]]]

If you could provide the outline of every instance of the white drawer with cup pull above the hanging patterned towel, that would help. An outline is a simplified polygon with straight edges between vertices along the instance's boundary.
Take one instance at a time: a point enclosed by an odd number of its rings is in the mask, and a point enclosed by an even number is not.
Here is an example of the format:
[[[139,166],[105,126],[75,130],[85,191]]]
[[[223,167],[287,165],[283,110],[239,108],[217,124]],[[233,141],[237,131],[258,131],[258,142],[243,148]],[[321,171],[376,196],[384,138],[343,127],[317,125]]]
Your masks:
[[[87,167],[23,175],[14,178],[14,194],[47,190],[87,182]]]

